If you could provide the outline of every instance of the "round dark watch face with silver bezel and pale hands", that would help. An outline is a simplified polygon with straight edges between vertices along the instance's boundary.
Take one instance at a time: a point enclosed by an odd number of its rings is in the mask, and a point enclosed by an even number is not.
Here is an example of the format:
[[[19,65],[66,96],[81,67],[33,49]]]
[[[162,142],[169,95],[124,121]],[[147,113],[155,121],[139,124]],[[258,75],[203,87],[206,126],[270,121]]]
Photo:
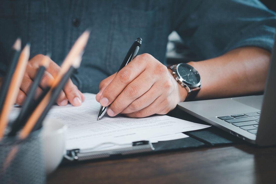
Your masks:
[[[178,64],[177,73],[182,78],[182,82],[188,86],[197,87],[200,85],[200,75],[192,66],[185,63]]]

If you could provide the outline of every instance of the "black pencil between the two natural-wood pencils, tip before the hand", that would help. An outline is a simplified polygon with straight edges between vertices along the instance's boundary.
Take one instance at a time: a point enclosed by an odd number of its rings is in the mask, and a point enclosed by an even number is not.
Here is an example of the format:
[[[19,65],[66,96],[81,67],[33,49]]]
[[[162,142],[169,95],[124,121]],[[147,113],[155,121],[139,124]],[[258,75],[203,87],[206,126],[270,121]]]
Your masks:
[[[14,121],[14,123],[12,123],[11,128],[10,128],[11,131],[8,133],[8,136],[14,136],[18,132],[18,130],[20,130],[20,128],[23,127],[23,125],[26,123],[28,116],[35,109],[35,107],[36,107],[35,92],[39,86],[39,83],[44,75],[46,68],[48,68],[48,66],[49,66],[49,62],[50,61],[49,61],[48,57],[44,57],[44,59],[41,61],[41,66],[39,67],[39,69],[36,73],[35,79],[33,81],[33,84],[31,85],[31,88],[28,91],[27,98],[24,101],[24,104],[21,108],[20,114],[18,115],[18,117]],[[43,95],[43,94],[41,94],[41,95]]]

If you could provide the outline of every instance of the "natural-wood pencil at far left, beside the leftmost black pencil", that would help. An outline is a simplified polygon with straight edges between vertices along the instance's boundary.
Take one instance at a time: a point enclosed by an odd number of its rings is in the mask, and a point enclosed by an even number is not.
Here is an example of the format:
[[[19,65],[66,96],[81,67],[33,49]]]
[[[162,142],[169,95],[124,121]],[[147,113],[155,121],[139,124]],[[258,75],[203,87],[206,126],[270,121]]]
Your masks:
[[[23,79],[23,75],[28,64],[30,56],[30,44],[27,44],[22,50],[14,74],[10,82],[9,89],[7,91],[7,97],[4,101],[2,112],[0,114],[0,140],[4,136],[5,128],[8,123],[10,111],[15,103],[19,88]]]

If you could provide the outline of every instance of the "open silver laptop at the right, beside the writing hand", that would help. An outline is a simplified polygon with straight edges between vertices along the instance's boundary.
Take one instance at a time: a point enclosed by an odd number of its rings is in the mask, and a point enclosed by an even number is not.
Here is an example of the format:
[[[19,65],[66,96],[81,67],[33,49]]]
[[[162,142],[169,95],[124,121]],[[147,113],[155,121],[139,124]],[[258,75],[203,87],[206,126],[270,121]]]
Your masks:
[[[276,145],[276,39],[263,95],[180,102],[177,107],[259,146]]]

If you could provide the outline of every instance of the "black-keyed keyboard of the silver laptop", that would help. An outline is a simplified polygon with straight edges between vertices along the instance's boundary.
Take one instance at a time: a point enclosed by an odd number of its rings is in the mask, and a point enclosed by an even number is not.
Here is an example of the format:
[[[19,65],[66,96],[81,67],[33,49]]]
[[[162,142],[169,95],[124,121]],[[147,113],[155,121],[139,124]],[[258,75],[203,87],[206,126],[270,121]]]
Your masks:
[[[261,112],[250,112],[245,114],[220,116],[217,118],[256,135],[259,127],[260,116]]]

